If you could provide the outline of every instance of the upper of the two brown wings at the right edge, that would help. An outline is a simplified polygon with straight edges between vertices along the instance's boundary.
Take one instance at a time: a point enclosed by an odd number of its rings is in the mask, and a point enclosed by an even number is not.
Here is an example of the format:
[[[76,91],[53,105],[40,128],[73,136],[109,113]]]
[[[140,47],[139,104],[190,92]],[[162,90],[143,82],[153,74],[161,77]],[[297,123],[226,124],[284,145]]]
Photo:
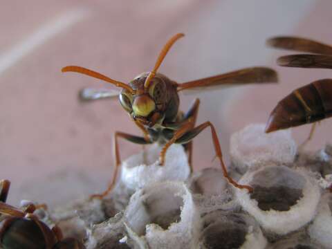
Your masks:
[[[275,48],[284,48],[306,53],[332,55],[332,46],[300,37],[273,37],[266,42]]]

